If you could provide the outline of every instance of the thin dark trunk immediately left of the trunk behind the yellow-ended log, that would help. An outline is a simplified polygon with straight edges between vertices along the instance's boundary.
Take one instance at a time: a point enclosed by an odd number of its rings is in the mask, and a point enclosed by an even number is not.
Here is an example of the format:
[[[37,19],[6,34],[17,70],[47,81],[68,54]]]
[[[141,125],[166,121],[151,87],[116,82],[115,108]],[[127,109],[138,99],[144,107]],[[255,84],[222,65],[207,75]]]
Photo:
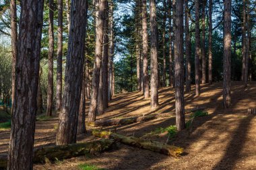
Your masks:
[[[170,9],[172,8],[172,0],[168,0],[168,26],[169,26],[169,87],[173,85],[172,75],[172,14]]]

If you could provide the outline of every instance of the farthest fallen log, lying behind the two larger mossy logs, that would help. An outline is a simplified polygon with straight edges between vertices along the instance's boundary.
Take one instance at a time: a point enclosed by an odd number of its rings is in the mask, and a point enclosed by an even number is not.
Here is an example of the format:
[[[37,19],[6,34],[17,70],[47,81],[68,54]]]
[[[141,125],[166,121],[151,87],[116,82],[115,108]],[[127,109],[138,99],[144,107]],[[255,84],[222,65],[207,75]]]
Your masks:
[[[88,122],[88,126],[114,126],[119,124],[133,124],[135,122],[143,122],[147,120],[156,119],[156,115],[147,115],[131,118],[118,118],[110,120],[96,120],[96,122]]]

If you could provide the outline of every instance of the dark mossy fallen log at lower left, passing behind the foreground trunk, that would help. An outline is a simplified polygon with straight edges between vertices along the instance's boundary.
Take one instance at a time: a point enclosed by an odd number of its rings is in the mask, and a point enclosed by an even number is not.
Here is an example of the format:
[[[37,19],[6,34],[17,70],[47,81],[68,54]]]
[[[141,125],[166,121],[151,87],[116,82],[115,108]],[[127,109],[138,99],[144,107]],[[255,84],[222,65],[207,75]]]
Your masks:
[[[47,163],[50,161],[78,157],[80,155],[94,155],[95,153],[108,150],[114,143],[114,140],[102,139],[94,140],[92,142],[68,144],[65,146],[49,146],[46,148],[40,148],[34,151],[33,162]],[[7,156],[0,157],[0,169],[5,169],[6,167]]]

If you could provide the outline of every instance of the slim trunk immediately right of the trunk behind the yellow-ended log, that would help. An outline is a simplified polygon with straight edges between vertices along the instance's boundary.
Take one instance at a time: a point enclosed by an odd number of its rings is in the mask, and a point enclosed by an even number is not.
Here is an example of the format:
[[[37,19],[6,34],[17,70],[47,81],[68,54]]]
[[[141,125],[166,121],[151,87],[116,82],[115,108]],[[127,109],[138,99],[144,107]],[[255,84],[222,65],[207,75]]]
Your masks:
[[[186,91],[191,91],[191,37],[189,32],[189,3],[185,0],[185,39],[186,39]]]

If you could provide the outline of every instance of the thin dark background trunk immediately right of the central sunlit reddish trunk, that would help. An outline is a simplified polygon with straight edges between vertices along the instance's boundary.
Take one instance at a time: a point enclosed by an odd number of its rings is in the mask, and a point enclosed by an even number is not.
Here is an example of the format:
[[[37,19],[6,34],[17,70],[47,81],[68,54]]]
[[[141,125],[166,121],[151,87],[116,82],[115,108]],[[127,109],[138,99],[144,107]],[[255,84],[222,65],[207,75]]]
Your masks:
[[[164,5],[164,16],[163,16],[163,30],[162,30],[162,87],[166,87],[166,46],[165,46],[165,26],[166,26],[166,0],[163,2]]]

